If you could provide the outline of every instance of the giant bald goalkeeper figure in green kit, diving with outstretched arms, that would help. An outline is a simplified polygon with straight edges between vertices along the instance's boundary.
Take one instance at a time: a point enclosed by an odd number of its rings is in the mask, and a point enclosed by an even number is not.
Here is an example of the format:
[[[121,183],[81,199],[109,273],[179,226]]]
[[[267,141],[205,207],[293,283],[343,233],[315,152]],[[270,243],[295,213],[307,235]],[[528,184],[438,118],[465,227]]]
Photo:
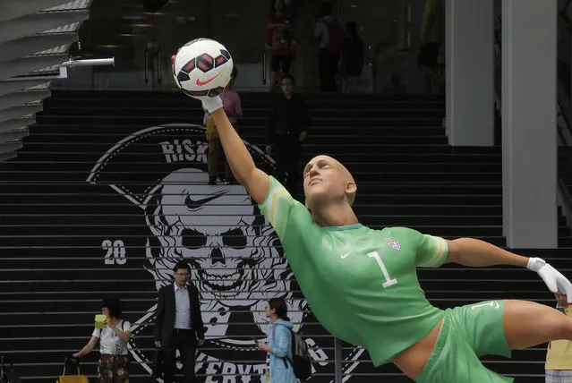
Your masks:
[[[314,157],[305,166],[304,206],[254,165],[220,98],[201,101],[214,117],[236,180],[275,228],[312,312],[332,335],[366,348],[375,366],[393,362],[422,383],[505,382],[512,379],[486,369],[479,357],[572,340],[572,320],[534,302],[442,311],[427,301],[415,273],[448,262],[512,265],[533,270],[551,292],[572,300],[572,284],[544,260],[470,238],[447,241],[405,227],[363,226],[352,209],[354,178],[332,157]]]

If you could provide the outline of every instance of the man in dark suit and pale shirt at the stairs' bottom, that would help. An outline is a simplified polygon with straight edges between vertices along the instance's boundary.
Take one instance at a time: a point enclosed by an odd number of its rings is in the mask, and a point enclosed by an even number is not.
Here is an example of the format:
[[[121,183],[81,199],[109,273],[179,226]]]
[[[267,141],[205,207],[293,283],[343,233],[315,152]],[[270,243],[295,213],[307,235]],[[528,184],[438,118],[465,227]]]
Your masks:
[[[178,262],[173,268],[175,283],[161,287],[155,321],[155,345],[162,347],[165,383],[175,379],[175,351],[183,360],[184,382],[194,382],[194,358],[197,345],[204,343],[199,290],[188,284],[191,268]]]

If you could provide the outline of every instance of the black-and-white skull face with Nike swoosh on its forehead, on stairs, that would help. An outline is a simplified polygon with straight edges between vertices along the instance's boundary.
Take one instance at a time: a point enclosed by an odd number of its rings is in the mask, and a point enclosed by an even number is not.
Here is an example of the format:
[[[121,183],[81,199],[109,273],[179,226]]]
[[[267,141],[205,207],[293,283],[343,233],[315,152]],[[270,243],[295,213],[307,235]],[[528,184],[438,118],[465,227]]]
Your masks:
[[[150,193],[146,252],[157,289],[170,283],[177,261],[189,262],[203,320],[214,323],[207,336],[224,336],[233,307],[255,306],[254,315],[263,315],[269,298],[291,295],[292,276],[275,247],[273,229],[243,186],[207,181],[208,174],[200,169],[183,168],[168,174]],[[299,322],[302,312],[297,315],[294,320]],[[254,322],[261,325],[261,320]]]

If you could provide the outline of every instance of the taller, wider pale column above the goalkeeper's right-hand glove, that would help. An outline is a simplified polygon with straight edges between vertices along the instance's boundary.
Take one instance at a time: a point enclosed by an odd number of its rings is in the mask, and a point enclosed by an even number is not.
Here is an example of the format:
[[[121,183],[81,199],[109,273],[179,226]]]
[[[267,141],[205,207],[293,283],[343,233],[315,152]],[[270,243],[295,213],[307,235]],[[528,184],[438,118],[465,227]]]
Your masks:
[[[510,248],[555,248],[556,4],[502,3],[502,173]]]

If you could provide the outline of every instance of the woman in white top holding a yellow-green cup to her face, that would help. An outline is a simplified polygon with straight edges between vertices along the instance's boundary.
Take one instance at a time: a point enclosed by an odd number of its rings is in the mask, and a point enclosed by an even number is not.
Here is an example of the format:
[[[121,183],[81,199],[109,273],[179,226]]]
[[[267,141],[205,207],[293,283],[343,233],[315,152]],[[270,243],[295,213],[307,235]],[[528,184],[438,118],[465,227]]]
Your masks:
[[[99,342],[98,382],[129,383],[129,357],[127,344],[131,338],[131,323],[121,319],[123,303],[116,298],[104,299],[101,302],[101,313],[107,319],[107,328],[94,328],[90,342],[74,353],[74,358],[81,358],[93,350]]]

